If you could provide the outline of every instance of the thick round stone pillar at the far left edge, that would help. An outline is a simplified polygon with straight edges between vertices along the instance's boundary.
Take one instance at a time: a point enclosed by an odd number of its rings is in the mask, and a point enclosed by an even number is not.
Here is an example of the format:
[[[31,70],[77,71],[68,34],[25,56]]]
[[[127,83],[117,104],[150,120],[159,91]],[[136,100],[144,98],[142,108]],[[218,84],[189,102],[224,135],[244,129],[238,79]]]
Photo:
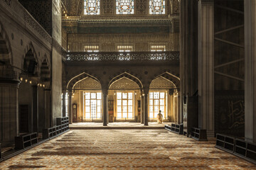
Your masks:
[[[18,80],[0,79],[0,143],[14,145],[18,135]]]

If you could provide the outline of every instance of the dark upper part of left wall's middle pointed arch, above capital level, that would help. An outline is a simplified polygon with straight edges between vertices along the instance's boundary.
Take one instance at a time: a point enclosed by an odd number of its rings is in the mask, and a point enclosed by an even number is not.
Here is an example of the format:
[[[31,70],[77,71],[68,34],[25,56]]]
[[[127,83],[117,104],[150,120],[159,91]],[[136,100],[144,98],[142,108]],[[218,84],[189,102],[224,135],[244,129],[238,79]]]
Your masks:
[[[38,57],[36,55],[36,51],[35,48],[33,47],[32,42],[30,42],[28,45],[26,45],[25,50],[23,51],[23,56],[22,56],[22,61],[21,62],[21,68],[28,72],[28,74],[32,74],[31,70],[28,70],[30,68],[30,64],[34,64],[33,67],[34,68],[34,72],[36,72],[37,74],[40,72],[40,67],[38,65]]]

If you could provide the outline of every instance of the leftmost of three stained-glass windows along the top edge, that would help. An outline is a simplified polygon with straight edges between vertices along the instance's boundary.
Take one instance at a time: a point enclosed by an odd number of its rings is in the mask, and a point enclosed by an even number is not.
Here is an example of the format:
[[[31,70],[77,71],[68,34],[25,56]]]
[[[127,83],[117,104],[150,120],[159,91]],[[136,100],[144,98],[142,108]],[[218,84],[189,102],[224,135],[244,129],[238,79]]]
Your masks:
[[[85,15],[100,15],[100,0],[85,0]]]

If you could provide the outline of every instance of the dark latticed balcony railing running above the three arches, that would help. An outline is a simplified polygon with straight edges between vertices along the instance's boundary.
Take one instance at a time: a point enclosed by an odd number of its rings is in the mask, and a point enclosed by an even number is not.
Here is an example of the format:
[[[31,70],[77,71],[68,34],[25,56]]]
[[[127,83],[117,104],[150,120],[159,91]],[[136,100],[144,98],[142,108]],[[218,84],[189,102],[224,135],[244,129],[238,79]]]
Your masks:
[[[179,52],[67,52],[67,61],[179,61]]]

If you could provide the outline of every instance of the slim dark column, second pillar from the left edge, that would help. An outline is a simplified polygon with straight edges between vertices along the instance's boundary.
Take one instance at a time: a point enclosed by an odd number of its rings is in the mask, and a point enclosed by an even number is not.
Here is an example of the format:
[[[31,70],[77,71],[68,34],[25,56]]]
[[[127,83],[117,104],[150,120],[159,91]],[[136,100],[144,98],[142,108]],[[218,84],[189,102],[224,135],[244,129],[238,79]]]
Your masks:
[[[38,132],[38,86],[32,86],[32,132]]]

